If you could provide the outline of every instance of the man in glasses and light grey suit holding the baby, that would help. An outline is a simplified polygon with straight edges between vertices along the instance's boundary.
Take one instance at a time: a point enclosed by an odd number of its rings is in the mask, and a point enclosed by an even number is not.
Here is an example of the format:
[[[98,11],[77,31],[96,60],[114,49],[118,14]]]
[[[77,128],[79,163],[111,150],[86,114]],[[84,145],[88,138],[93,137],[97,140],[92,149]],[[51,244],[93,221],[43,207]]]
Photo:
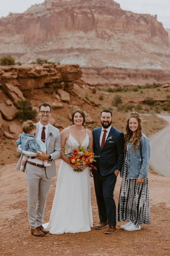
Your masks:
[[[47,152],[28,158],[25,166],[25,176],[28,186],[28,220],[31,234],[40,237],[49,232],[43,228],[42,223],[51,178],[56,176],[54,160],[61,155],[61,139],[59,130],[49,123],[51,106],[48,103],[42,103],[39,106],[38,115],[40,121],[36,124],[35,137],[44,141]],[[17,152],[20,152],[18,148]],[[23,155],[21,155],[16,166],[17,170],[20,169],[22,157]],[[44,167],[44,160],[48,160],[51,166]]]

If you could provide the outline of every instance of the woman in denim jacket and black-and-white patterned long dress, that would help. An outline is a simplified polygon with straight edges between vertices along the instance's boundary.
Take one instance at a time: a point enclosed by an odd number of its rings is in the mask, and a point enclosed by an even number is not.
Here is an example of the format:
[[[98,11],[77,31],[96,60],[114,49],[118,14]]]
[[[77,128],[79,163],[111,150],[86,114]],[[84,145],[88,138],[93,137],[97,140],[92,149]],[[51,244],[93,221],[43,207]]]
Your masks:
[[[123,179],[117,207],[117,221],[127,221],[121,226],[127,231],[140,230],[143,223],[150,224],[149,158],[149,140],[142,133],[139,114],[134,111],[126,123]]]

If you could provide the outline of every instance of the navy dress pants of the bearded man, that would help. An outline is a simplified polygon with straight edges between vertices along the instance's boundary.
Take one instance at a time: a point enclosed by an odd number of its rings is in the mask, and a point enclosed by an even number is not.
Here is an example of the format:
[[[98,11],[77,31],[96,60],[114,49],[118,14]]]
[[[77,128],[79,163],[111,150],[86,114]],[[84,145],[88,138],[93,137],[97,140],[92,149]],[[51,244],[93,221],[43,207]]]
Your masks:
[[[117,176],[114,173],[102,176],[98,171],[93,178],[100,222],[108,221],[109,226],[116,226],[116,205],[113,191]]]

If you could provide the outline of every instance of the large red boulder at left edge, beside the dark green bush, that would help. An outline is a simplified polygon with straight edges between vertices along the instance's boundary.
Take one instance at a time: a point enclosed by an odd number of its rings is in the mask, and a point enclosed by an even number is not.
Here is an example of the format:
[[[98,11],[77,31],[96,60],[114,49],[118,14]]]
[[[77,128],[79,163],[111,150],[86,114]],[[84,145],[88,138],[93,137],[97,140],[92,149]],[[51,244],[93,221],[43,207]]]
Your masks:
[[[5,102],[0,103],[0,112],[2,116],[8,121],[14,119],[18,111],[19,110],[10,100],[6,100]]]

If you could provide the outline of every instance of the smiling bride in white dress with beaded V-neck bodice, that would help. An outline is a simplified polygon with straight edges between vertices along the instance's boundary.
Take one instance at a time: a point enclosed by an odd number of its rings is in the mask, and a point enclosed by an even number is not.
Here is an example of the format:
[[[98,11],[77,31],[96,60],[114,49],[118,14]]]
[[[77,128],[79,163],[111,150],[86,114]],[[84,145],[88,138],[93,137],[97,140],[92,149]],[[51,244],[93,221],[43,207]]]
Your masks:
[[[75,110],[72,122],[60,133],[61,148],[65,145],[65,153],[78,146],[93,148],[93,135],[84,125],[84,112]],[[90,169],[82,165],[83,172],[75,172],[73,169],[80,166],[68,163],[68,157],[63,152],[61,159],[50,220],[43,227],[51,234],[90,231],[93,227]]]

